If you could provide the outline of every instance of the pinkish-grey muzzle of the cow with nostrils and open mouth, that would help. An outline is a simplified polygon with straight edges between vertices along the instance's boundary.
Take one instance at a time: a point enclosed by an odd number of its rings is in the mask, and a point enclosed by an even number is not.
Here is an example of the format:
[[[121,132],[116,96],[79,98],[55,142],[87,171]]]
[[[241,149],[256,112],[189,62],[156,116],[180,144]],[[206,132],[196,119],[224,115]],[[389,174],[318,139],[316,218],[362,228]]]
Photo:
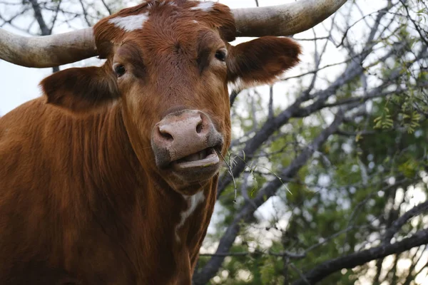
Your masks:
[[[152,131],[152,149],[161,170],[173,170],[193,180],[212,177],[220,167],[223,136],[210,117],[199,110],[166,115]]]

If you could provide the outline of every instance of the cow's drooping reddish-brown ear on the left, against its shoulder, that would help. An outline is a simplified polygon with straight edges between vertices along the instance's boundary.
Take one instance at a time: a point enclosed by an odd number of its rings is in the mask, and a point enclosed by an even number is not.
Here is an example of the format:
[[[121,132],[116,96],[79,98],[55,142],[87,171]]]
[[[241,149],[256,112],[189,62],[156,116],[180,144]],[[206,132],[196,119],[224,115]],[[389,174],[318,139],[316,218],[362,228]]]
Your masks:
[[[119,97],[116,78],[106,66],[68,68],[40,83],[47,103],[73,113],[101,108]]]

